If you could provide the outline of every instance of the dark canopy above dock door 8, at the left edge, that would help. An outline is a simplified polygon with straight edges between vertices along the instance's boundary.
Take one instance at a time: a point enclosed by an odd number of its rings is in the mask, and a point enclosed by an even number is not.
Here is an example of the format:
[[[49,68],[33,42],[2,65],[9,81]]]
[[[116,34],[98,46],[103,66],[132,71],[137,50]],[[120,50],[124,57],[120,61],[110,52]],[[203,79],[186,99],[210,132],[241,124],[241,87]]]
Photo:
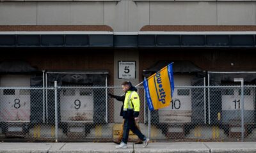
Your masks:
[[[36,71],[38,69],[24,61],[3,61],[0,63],[0,73],[32,73]]]

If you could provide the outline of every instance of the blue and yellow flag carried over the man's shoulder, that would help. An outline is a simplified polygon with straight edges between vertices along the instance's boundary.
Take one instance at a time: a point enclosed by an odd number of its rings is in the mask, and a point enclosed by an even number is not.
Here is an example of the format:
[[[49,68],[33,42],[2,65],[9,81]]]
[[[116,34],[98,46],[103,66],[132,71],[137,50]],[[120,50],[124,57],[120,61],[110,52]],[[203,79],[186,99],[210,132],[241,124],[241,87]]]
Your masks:
[[[157,110],[169,106],[172,101],[174,91],[172,65],[173,62],[143,82],[148,108],[150,110]]]

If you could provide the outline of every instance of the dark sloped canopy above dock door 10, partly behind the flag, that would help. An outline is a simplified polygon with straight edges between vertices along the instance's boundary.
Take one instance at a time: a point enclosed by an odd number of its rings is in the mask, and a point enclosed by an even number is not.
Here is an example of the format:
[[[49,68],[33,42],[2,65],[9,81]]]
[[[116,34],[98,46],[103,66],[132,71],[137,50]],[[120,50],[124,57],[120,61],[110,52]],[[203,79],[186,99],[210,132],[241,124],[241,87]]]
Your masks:
[[[150,68],[144,70],[143,76],[149,77],[171,62],[173,62],[173,73],[196,73],[203,71],[190,61],[158,61],[150,66]]]

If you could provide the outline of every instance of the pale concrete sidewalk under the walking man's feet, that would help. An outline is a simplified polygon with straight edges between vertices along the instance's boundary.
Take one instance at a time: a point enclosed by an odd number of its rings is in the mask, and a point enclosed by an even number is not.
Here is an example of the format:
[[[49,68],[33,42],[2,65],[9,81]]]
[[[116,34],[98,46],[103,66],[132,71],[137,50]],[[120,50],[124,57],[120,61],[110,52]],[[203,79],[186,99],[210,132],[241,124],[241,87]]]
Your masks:
[[[114,143],[0,143],[0,152],[76,152],[76,153],[121,153],[121,152],[256,152],[255,142],[177,142],[149,143],[148,147],[128,143],[128,149],[115,149]]]

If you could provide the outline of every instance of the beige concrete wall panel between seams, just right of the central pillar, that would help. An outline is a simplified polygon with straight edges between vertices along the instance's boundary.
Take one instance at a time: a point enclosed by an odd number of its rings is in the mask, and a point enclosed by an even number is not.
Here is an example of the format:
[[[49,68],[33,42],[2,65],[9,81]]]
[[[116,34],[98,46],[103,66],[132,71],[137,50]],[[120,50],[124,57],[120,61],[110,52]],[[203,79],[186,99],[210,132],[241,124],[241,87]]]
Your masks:
[[[216,2],[171,1],[150,4],[152,25],[216,25]]]

